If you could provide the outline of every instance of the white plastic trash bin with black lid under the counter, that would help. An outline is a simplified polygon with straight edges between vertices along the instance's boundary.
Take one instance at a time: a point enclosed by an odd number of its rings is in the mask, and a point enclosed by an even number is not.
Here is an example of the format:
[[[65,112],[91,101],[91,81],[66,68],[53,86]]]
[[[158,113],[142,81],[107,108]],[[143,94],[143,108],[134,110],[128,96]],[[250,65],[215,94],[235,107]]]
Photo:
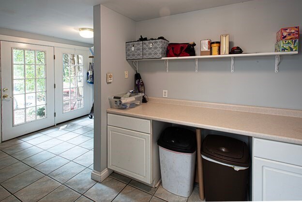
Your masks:
[[[189,197],[193,191],[196,163],[195,133],[168,127],[157,144],[163,187],[173,194]]]

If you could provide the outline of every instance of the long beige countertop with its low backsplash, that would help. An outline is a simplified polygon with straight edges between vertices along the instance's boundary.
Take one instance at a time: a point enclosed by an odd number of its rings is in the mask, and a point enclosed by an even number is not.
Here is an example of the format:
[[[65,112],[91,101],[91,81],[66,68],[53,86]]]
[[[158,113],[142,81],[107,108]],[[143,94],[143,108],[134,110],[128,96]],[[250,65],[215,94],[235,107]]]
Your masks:
[[[134,109],[107,113],[302,145],[302,110],[151,98]]]

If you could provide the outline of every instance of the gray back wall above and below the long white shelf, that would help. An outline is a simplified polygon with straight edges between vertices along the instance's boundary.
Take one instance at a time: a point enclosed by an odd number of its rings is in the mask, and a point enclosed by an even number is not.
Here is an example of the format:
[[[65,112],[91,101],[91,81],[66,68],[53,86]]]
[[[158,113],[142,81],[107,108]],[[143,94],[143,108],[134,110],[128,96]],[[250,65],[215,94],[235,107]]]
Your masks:
[[[273,52],[276,32],[287,26],[302,28],[301,0],[253,0],[180,15],[137,22],[137,35],[164,36],[170,42],[219,41],[230,34],[230,47],[245,53]],[[301,35],[300,35],[301,37]],[[299,43],[301,51],[301,42]],[[146,94],[229,104],[302,109],[302,56],[282,57],[274,73],[274,57],[199,60],[198,73],[192,60],[170,61],[169,72],[161,61],[139,62]]]

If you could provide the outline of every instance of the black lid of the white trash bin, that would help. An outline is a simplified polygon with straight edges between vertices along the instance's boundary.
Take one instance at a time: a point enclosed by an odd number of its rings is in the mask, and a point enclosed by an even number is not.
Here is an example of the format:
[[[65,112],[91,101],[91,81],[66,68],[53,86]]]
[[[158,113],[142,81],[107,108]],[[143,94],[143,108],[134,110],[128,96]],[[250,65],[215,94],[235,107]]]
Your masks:
[[[157,144],[171,151],[192,154],[196,151],[196,135],[185,128],[167,127]]]

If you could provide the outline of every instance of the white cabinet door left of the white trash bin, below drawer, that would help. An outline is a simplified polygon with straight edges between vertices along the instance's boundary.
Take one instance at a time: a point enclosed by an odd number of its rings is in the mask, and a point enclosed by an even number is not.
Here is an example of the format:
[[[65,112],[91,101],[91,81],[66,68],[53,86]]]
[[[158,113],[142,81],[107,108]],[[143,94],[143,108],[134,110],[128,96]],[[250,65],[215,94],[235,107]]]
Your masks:
[[[151,184],[151,135],[108,126],[108,168]]]

